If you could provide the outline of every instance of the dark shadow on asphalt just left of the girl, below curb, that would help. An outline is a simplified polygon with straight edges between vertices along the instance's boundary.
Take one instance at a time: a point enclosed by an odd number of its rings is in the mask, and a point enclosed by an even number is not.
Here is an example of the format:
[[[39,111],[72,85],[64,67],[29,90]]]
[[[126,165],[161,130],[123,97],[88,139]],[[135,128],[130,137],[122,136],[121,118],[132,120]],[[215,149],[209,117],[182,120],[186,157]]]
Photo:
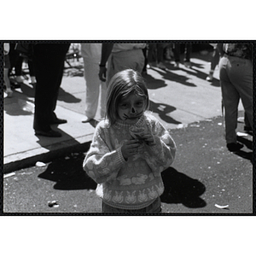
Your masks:
[[[53,160],[38,177],[54,181],[54,189],[96,189],[96,183],[83,170],[84,154],[71,154]]]

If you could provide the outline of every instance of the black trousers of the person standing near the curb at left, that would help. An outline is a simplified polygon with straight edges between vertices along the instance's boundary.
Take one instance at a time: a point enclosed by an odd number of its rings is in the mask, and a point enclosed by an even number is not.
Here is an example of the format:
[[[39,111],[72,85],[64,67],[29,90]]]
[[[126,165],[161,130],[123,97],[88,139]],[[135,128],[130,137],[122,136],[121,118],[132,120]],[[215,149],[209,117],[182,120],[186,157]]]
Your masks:
[[[36,44],[33,64],[37,79],[34,130],[49,131],[55,119],[55,107],[70,44]]]

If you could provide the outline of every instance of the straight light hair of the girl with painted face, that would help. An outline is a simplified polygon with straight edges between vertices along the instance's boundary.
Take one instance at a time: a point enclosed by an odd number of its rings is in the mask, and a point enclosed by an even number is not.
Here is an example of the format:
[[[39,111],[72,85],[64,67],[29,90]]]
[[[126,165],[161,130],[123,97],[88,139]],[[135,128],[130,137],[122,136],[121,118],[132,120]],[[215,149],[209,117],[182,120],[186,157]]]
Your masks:
[[[117,119],[119,103],[131,93],[143,96],[146,100],[144,110],[149,108],[148,88],[142,75],[133,69],[125,69],[113,75],[107,90],[106,119],[113,125]]]

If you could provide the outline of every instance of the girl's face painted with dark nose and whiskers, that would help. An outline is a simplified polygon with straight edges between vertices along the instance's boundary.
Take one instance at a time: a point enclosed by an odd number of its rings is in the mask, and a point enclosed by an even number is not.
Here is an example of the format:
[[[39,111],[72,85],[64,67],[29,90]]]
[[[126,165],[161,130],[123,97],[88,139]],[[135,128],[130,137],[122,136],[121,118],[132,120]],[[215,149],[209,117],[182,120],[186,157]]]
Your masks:
[[[131,93],[125,97],[118,106],[119,119],[129,125],[135,125],[145,110],[146,100],[143,96]]]

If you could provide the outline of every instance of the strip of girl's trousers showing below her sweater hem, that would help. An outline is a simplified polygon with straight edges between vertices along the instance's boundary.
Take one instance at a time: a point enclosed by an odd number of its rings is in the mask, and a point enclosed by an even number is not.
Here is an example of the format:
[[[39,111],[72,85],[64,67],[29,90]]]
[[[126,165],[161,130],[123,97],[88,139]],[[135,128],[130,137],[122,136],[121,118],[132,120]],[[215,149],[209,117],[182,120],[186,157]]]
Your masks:
[[[151,205],[138,210],[126,210],[115,207],[110,207],[102,201],[102,213],[126,213],[126,214],[136,214],[136,213],[160,213],[161,212],[161,201],[158,197]]]

